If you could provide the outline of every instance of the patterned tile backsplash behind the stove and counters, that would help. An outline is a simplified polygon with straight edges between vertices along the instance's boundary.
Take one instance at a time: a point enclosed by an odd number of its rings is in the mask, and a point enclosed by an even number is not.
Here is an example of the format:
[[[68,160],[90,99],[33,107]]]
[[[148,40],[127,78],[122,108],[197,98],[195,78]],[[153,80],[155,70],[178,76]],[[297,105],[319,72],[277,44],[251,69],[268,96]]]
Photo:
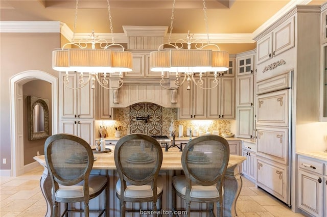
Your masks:
[[[135,132],[169,135],[171,122],[176,129],[176,136],[179,134],[179,125],[183,126],[184,137],[186,137],[187,127],[198,129],[204,133],[206,129],[209,132],[219,130],[219,133],[222,133],[229,132],[232,128],[229,120],[177,120],[177,108],[166,108],[154,103],[136,103],[125,108],[114,108],[114,120],[111,122],[97,121],[96,127],[105,123],[107,126],[106,137],[114,137],[115,127],[118,126],[121,126],[122,136]]]

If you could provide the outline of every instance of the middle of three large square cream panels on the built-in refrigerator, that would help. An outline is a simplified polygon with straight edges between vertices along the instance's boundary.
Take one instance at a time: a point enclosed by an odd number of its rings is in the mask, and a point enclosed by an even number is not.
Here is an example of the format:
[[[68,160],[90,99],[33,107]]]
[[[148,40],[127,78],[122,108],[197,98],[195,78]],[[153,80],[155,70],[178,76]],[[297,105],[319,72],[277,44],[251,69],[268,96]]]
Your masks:
[[[288,164],[288,129],[258,127],[258,155]]]

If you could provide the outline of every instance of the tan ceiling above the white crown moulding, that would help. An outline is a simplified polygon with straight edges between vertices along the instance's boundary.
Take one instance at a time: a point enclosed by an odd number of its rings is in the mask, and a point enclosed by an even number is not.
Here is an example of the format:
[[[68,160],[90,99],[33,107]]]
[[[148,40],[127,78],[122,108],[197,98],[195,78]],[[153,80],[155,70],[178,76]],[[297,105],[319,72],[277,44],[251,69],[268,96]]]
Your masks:
[[[175,0],[173,34],[252,34],[283,7],[321,5],[310,0],[206,0],[206,31],[202,0]],[[113,33],[125,25],[171,25],[173,0],[110,0]],[[61,21],[74,31],[75,0],[0,0],[2,21]],[[170,29],[168,28],[168,33]],[[106,0],[79,0],[75,33],[110,33]]]

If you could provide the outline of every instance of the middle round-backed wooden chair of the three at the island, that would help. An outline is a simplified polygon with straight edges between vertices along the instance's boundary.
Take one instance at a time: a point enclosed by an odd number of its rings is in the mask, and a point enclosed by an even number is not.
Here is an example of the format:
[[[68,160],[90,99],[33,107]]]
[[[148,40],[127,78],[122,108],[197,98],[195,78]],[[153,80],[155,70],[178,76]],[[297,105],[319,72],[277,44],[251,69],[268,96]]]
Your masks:
[[[114,162],[120,179],[116,183],[116,196],[120,199],[120,213],[139,212],[127,209],[126,202],[152,202],[152,210],[157,210],[157,200],[161,208],[163,182],[158,176],[162,164],[160,144],[146,134],[129,134],[115,145]]]

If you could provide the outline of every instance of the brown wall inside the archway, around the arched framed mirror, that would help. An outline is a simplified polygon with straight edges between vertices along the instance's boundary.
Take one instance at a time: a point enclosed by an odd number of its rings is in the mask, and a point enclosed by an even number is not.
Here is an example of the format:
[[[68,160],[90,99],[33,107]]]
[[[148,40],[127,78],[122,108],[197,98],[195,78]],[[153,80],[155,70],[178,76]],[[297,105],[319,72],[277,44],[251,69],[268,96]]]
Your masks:
[[[23,93],[23,119],[24,119],[24,165],[31,164],[35,160],[33,157],[39,151],[44,154],[44,142],[46,138],[39,140],[28,140],[28,107],[27,96],[36,96],[49,100],[49,134],[52,135],[52,93],[51,84],[44,80],[32,80],[22,86]]]

